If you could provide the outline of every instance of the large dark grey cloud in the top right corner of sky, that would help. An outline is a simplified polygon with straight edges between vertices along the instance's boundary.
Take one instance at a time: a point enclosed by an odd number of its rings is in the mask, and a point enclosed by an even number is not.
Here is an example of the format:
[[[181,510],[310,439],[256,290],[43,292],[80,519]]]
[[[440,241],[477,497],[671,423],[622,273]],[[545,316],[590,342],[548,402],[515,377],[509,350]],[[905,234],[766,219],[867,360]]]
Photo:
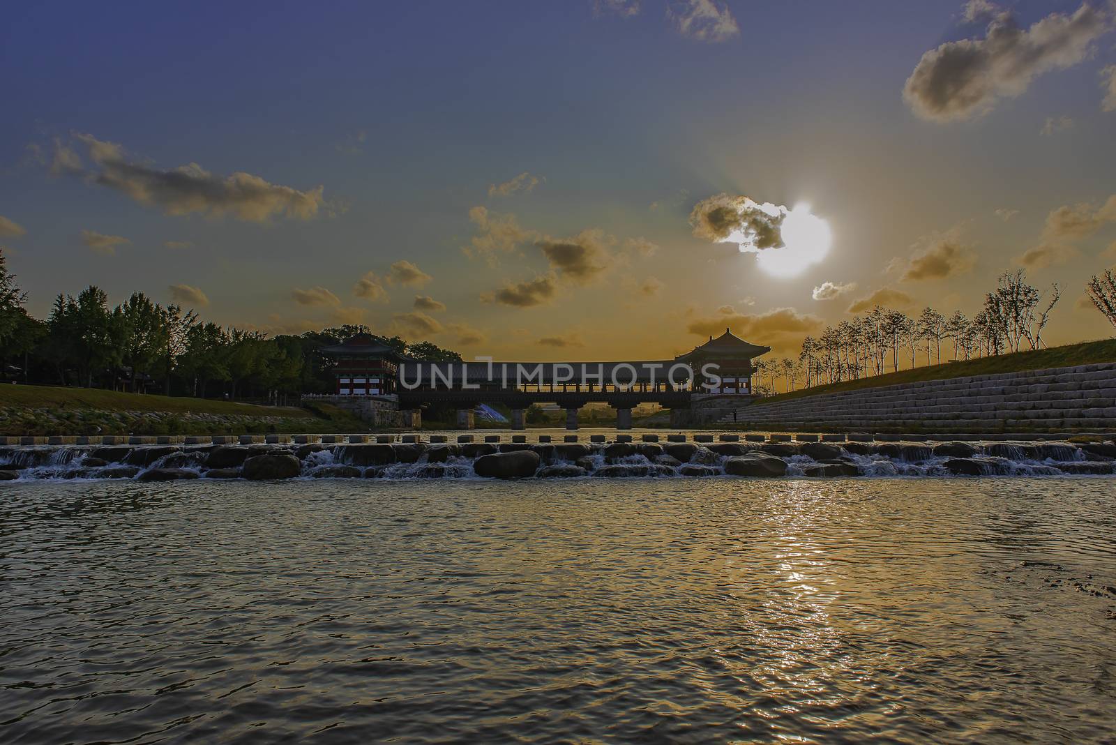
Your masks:
[[[1071,16],[1050,13],[1027,29],[1010,12],[995,12],[983,39],[947,41],[924,54],[903,97],[915,114],[933,122],[980,116],[1000,98],[1022,94],[1037,75],[1084,60],[1110,28],[1108,13],[1088,3]]]

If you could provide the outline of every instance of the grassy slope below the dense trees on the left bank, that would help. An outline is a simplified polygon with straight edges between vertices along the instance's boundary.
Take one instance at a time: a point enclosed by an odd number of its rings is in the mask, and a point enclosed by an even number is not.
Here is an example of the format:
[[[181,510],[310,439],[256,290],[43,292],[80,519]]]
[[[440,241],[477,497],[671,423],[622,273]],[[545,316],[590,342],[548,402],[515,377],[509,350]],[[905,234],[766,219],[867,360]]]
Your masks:
[[[294,406],[254,406],[233,401],[209,400],[151,394],[122,394],[98,388],[0,385],[0,407],[97,409],[100,412],[172,412],[181,414],[222,414],[230,416],[312,417]]]

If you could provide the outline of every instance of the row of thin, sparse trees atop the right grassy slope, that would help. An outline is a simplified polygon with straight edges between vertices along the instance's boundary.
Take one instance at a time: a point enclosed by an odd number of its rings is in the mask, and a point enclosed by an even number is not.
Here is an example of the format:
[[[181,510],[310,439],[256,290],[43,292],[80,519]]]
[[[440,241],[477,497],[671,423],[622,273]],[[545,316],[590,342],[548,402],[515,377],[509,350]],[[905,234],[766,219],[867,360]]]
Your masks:
[[[1107,272],[1109,312],[1094,298],[1094,303],[1116,326],[1116,278]],[[1101,280],[1093,279],[1103,293]],[[949,316],[924,308],[917,316],[876,306],[866,313],[828,326],[816,338],[802,340],[797,359],[758,359],[756,391],[772,395],[798,387],[811,387],[843,380],[857,380],[885,373],[943,361],[973,359],[1041,349],[1042,330],[1061,299],[1061,289],[1051,284],[1040,292],[1027,281],[1027,272],[1016,270],[1000,275],[993,291],[984,296],[984,306],[973,318],[960,310]],[[945,359],[943,360],[943,348]]]

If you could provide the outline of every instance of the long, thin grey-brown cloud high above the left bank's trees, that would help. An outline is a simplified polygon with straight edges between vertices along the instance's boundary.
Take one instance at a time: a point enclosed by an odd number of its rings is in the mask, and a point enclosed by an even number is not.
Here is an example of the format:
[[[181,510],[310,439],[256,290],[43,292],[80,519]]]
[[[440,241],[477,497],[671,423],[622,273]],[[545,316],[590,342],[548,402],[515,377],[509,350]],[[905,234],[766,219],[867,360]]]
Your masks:
[[[75,134],[74,139],[86,148],[93,165],[86,168],[73,147],[56,141],[51,165],[55,173],[80,175],[141,204],[157,206],[166,214],[228,214],[246,222],[266,222],[272,216],[310,220],[325,206],[321,186],[301,192],[250,173],[213,174],[196,163],[156,168],[129,159],[115,143],[86,134]]]

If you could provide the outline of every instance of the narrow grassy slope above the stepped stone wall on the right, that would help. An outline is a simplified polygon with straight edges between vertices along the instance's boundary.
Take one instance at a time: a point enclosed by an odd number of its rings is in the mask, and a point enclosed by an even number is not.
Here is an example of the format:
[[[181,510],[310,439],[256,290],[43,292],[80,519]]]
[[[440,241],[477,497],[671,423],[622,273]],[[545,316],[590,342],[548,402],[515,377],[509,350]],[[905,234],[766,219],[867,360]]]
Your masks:
[[[1049,349],[1039,349],[1037,351],[1020,351],[1013,355],[982,357],[980,359],[945,362],[944,365],[932,365],[930,367],[916,367],[913,370],[899,370],[898,373],[877,375],[860,380],[848,380],[846,383],[834,383],[828,386],[817,386],[805,390],[792,390],[789,394],[779,394],[778,396],[762,398],[756,401],[753,406],[773,404],[791,398],[802,398],[805,396],[836,394],[843,390],[894,386],[901,383],[944,380],[946,378],[995,375],[998,373],[1021,373],[1024,370],[1042,370],[1050,367],[1090,365],[1093,362],[1116,362],[1116,339],[1085,341],[1083,344],[1050,347]]]

